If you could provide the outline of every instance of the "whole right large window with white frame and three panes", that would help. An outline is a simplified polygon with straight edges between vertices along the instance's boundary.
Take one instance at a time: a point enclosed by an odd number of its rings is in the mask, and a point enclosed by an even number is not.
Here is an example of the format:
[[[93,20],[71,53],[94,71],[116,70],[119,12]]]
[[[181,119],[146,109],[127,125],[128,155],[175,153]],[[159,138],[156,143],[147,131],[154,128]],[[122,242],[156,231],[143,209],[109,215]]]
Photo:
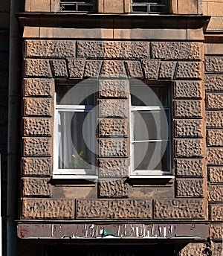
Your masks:
[[[132,85],[131,175],[170,173],[168,86]]]

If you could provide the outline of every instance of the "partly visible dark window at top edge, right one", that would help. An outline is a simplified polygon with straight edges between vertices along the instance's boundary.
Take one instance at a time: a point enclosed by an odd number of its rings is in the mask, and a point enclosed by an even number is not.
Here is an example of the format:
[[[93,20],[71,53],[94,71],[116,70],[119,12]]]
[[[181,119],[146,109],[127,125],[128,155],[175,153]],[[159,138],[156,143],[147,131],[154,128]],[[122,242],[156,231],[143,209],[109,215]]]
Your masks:
[[[167,0],[131,0],[132,13],[167,13]]]

